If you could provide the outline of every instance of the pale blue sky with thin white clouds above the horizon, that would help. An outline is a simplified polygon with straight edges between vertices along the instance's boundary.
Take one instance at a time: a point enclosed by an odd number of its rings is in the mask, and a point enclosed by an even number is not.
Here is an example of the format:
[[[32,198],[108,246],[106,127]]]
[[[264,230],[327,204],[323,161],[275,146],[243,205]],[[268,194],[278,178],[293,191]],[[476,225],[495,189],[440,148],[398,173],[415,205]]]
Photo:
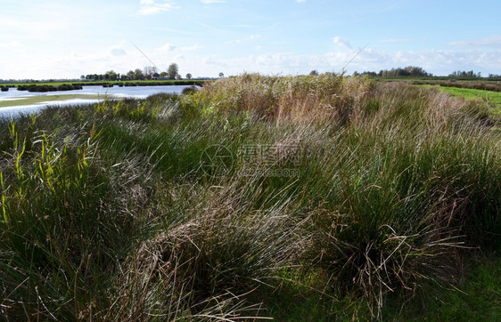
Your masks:
[[[418,66],[501,74],[501,1],[0,0],[0,79]]]

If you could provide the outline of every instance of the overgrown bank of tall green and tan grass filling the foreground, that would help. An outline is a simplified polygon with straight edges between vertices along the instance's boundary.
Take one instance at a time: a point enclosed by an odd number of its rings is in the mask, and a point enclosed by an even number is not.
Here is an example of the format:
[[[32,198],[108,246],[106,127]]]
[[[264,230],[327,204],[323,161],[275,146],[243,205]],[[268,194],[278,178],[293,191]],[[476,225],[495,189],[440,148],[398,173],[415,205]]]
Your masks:
[[[433,299],[475,283],[472,258],[499,267],[488,109],[368,78],[243,75],[5,123],[1,313],[444,316]]]

